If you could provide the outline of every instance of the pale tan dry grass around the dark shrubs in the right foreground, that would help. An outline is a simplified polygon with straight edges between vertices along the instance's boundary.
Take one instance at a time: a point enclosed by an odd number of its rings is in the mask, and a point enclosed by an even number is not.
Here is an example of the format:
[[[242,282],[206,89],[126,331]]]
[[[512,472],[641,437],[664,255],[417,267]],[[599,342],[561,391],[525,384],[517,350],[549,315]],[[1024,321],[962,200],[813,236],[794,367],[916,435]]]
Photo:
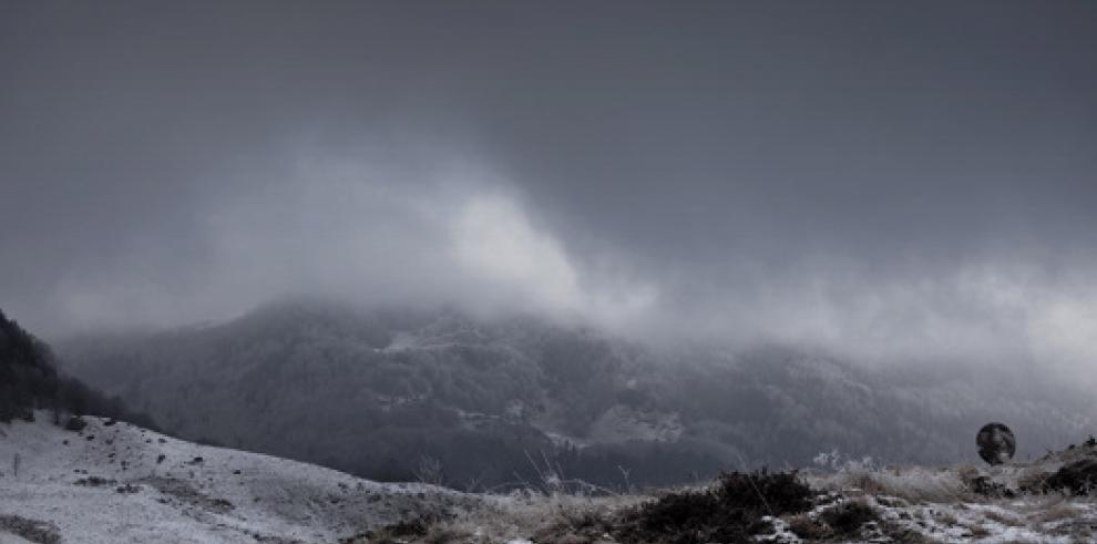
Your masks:
[[[1046,495],[1024,494],[1016,499],[993,499],[972,492],[972,482],[992,481],[995,485],[1019,489],[1023,482],[1033,481],[1057,466],[1057,460],[1019,463],[994,468],[957,465],[951,468],[847,468],[833,473],[800,472],[800,480],[819,492],[837,492],[851,504],[869,504],[892,509],[901,517],[881,517],[879,527],[893,542],[927,543],[942,536],[911,525],[906,514],[925,515],[933,526],[953,526],[965,530],[973,540],[1028,537],[1033,531],[1046,535],[1084,535],[1078,542],[1089,542],[1091,527],[1078,525],[1097,507],[1081,497],[1065,497],[1057,493]],[[674,491],[701,492],[706,487]],[[671,490],[664,490],[664,493]],[[860,499],[859,499],[860,497]],[[539,543],[598,542],[605,532],[613,532],[613,523],[624,520],[626,511],[654,499],[650,494],[592,496],[583,494],[544,492],[531,489],[510,495],[489,497],[486,505],[465,512],[458,517],[430,526],[426,534],[413,540],[417,544],[501,544],[513,540],[532,540]],[[859,502],[860,501],[860,502]],[[867,502],[865,502],[867,501]],[[1080,502],[1079,502],[1080,501]],[[940,506],[940,509],[939,509]],[[819,510],[819,514],[789,514],[782,516],[789,528],[808,541],[829,541],[838,537],[835,523],[827,515],[837,515],[840,509]],[[924,513],[916,514],[922,511]],[[884,512],[884,510],[880,510]],[[908,520],[908,521],[901,521]],[[833,520],[832,520],[833,521]],[[855,520],[857,521],[857,520]],[[838,525],[841,525],[838,523]],[[850,526],[861,526],[851,523]],[[1007,528],[1008,527],[1008,528]],[[1026,536],[1022,536],[1026,535]],[[847,534],[844,536],[853,536]],[[1025,541],[1019,541],[1025,542]],[[1035,542],[1035,541],[1034,541]]]

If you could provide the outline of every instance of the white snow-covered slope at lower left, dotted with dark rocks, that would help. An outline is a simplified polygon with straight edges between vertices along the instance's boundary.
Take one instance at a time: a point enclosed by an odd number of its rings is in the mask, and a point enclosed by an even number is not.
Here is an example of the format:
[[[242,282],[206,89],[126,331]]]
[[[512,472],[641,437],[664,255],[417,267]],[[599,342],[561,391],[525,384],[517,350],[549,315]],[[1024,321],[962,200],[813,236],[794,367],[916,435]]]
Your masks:
[[[86,418],[0,424],[0,543],[335,543],[478,500]]]

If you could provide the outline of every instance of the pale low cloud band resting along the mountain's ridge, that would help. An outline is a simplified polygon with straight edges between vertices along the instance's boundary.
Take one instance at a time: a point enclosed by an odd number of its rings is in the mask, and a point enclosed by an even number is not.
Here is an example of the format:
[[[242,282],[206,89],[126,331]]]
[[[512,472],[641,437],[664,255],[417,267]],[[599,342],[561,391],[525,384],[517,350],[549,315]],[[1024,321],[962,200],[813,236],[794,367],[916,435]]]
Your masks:
[[[868,365],[1094,378],[1097,289],[1086,278],[1097,267],[1084,254],[1050,266],[984,253],[886,275],[819,253],[783,266],[640,266],[635,248],[570,244],[572,230],[554,229],[551,209],[532,213],[522,184],[486,161],[304,150],[262,176],[226,174],[193,215],[193,243],[139,237],[111,266],[65,275],[50,300],[61,329],[170,327],[309,295],[533,312],[653,343],[776,342]]]

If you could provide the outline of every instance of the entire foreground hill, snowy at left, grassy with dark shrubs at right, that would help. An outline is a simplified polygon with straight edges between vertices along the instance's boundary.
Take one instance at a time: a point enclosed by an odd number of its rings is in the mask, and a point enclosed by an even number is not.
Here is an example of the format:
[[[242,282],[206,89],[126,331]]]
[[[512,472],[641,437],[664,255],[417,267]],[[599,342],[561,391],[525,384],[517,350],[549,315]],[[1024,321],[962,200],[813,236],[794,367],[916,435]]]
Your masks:
[[[1093,441],[993,469],[845,463],[628,494],[554,493],[546,466],[527,492],[474,495],[49,419],[0,424],[0,543],[1097,542]]]

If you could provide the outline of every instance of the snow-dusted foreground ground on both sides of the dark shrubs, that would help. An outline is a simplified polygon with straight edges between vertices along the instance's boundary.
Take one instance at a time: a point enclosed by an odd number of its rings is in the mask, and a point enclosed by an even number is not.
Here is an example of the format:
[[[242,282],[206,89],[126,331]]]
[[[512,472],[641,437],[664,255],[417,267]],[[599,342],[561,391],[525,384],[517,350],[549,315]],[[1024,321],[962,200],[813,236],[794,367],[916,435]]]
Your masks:
[[[336,544],[440,514],[444,521],[433,524],[431,542],[580,542],[567,540],[566,528],[544,530],[585,513],[613,519],[615,511],[652,497],[486,496],[380,484],[311,464],[197,445],[123,422],[86,421],[79,433],[53,425],[47,412],[33,423],[0,424],[0,544]],[[848,542],[1097,542],[1093,499],[987,499],[968,489],[973,478],[1017,489],[1086,455],[1097,455],[1097,447],[997,468],[859,465],[806,474],[824,497],[807,514],[775,519],[775,533],[758,540],[801,542],[791,530],[797,523],[816,522],[828,509],[861,501],[879,521]],[[896,540],[896,530],[919,540]],[[449,538],[438,540],[440,534]],[[546,540],[546,534],[553,536]],[[608,535],[603,541],[613,542]]]

